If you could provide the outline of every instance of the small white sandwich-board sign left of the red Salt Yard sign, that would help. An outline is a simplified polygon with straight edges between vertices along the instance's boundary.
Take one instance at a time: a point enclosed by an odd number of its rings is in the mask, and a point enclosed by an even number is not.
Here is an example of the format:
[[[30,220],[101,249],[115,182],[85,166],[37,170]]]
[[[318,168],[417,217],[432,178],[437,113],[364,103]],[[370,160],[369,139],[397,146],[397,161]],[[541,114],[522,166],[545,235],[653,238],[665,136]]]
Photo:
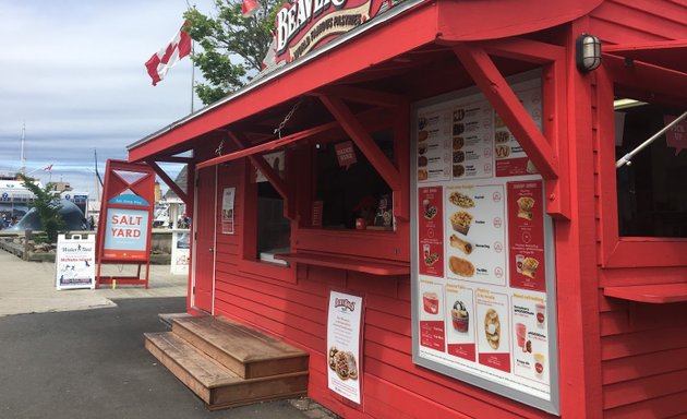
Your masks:
[[[55,258],[58,290],[95,288],[95,236],[58,236]]]

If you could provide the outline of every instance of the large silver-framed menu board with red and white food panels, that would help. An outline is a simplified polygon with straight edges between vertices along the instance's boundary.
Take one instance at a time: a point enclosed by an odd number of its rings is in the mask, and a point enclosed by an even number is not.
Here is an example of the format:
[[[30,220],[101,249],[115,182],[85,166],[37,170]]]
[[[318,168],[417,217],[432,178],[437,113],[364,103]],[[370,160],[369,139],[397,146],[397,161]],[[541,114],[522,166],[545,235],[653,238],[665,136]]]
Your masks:
[[[541,130],[541,82],[511,88]],[[415,106],[413,359],[555,412],[552,222],[537,168],[477,89]]]

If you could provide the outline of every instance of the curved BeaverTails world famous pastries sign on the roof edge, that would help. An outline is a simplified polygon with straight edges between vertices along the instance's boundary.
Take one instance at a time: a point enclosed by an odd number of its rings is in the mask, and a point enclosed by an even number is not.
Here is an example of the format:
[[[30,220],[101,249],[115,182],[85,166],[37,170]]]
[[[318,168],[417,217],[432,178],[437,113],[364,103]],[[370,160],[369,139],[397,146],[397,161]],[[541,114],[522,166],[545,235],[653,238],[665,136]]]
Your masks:
[[[275,17],[265,70],[297,60],[364,24],[400,0],[290,0]]]

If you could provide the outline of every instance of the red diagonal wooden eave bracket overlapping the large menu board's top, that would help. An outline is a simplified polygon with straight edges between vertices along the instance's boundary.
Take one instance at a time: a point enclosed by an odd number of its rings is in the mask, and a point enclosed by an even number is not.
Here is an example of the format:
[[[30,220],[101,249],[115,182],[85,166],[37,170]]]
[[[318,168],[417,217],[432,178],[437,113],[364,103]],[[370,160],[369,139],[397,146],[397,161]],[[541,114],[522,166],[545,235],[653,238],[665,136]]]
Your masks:
[[[552,57],[557,56],[556,51],[557,49],[553,47],[544,51],[549,56],[537,57],[535,52],[530,50],[531,56],[522,55],[520,58],[533,62],[550,62],[545,67],[544,82],[551,83],[551,87],[543,85],[542,88],[549,99],[555,98],[559,101],[564,99],[565,94],[565,68],[563,55],[557,59]],[[556,115],[546,116],[550,118],[549,125],[553,127],[546,132],[553,140],[550,142],[483,48],[457,44],[454,46],[454,52],[544,178],[547,194],[546,213],[552,217],[570,219],[567,151],[558,144],[565,129],[563,106],[555,104]],[[561,157],[564,157],[563,161]]]

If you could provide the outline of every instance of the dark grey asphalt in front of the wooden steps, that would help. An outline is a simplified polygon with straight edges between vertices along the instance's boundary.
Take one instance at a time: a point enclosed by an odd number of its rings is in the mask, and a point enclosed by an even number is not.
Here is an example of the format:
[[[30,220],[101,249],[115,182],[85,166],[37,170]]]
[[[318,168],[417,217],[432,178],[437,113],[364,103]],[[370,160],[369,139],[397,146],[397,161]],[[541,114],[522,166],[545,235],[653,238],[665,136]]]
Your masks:
[[[288,402],[207,411],[143,347],[158,313],[185,298],[116,300],[118,307],[0,318],[0,418],[306,418]]]

